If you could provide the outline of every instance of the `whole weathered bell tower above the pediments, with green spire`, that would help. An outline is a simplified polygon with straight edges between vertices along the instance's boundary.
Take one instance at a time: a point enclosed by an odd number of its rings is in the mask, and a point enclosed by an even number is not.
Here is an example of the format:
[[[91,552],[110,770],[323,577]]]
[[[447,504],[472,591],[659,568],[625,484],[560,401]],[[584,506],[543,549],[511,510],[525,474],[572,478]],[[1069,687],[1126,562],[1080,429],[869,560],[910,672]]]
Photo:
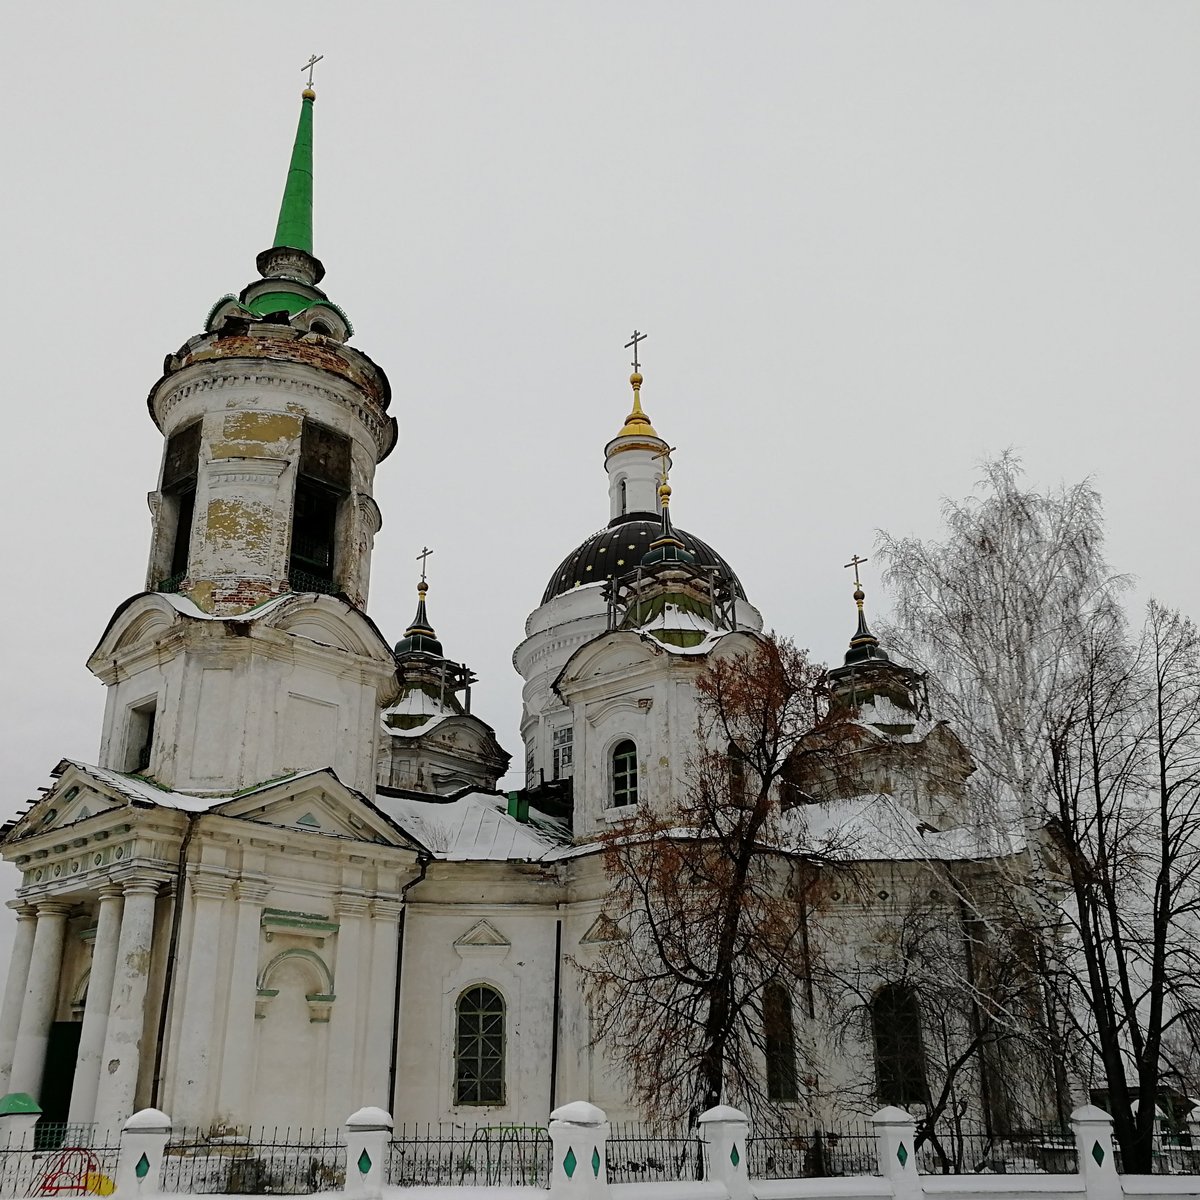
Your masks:
[[[108,688],[100,766],[164,788],[227,794],[330,768],[370,793],[396,695],[364,612],[396,421],[388,377],[320,288],[316,98],[310,84],[259,277],[150,389],[163,455],[146,590],[88,664]]]

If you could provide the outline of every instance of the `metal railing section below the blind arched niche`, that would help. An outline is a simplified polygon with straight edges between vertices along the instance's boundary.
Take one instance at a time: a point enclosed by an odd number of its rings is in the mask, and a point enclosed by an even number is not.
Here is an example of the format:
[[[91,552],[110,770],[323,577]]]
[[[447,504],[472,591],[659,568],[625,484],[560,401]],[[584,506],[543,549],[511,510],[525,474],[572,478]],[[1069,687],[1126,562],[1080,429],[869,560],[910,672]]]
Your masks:
[[[346,1182],[341,1129],[264,1128],[246,1134],[176,1129],[162,1160],[163,1192],[310,1195]]]

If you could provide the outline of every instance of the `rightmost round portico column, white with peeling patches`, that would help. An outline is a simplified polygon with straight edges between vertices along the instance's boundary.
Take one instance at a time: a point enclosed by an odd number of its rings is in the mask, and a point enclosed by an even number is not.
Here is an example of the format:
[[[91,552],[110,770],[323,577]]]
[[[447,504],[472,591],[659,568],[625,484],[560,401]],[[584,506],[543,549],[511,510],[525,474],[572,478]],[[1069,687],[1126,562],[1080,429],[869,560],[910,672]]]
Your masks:
[[[125,911],[121,914],[113,1002],[108,1009],[100,1087],[96,1092],[95,1120],[109,1129],[121,1127],[133,1115],[138,1068],[142,1063],[142,1033],[145,1028],[158,881],[134,878],[122,887]]]

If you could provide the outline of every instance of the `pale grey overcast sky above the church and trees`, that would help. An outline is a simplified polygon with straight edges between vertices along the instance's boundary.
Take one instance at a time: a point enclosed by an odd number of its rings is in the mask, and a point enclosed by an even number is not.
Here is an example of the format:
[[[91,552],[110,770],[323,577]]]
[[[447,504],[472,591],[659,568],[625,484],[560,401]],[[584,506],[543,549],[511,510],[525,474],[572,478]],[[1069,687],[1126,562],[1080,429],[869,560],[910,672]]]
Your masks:
[[[2,808],[95,761],[163,355],[256,276],[317,68],[316,252],[389,373],[370,611],[430,611],[520,763],[510,655],[644,406],[673,514],[822,659],[848,557],[1015,446],[1200,611],[1200,5],[8,4]],[[864,572],[869,608],[886,610]],[[12,876],[0,878],[0,886]],[[6,960],[7,955],[4,955]]]

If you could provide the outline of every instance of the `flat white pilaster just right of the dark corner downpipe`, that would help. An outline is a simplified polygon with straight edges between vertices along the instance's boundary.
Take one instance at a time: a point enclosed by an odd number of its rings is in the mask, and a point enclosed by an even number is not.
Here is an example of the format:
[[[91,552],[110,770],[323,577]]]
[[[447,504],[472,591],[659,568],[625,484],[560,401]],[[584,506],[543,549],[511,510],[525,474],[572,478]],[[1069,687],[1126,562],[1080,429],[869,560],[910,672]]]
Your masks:
[[[232,889],[227,876],[203,870],[193,871],[190,882],[192,936],[187,943],[186,983],[175,994],[176,1004],[182,1000],[176,1008],[182,1016],[167,1104],[181,1126],[200,1124],[209,1116],[214,1058],[221,1045],[214,1028],[221,974],[221,913]]]

